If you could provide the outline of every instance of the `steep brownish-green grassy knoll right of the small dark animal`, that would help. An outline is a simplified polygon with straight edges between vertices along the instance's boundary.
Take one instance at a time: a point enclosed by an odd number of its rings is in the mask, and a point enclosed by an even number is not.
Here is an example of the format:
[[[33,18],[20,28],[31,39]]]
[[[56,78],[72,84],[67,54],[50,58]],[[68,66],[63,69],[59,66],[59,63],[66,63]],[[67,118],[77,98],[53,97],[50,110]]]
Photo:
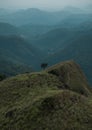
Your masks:
[[[48,73],[54,74],[60,78],[66,88],[86,95],[89,93],[89,85],[79,65],[74,61],[61,62],[47,70]]]

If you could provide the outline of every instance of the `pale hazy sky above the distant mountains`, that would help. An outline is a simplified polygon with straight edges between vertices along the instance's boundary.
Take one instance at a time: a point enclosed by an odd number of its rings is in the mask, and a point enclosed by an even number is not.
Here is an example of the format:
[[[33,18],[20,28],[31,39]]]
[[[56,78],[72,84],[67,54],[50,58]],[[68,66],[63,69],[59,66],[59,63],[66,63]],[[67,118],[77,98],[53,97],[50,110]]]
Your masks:
[[[84,6],[92,0],[0,0],[0,8],[59,9],[64,6]]]

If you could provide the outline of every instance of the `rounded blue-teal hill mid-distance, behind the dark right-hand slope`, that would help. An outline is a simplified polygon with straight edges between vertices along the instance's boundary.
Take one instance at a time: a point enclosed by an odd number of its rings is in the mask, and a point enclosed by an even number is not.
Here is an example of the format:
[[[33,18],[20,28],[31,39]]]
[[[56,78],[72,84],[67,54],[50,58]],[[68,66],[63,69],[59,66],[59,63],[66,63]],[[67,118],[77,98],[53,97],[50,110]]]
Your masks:
[[[75,29],[57,27],[36,38],[32,43],[45,52],[56,52],[64,48],[76,35]]]

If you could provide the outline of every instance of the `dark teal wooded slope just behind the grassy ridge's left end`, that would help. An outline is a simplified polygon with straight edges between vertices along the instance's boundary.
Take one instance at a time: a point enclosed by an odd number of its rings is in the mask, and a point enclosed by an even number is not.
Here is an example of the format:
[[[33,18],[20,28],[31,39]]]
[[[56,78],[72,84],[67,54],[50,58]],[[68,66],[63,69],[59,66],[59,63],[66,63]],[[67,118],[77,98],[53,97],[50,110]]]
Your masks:
[[[6,77],[34,71],[31,66],[15,61],[0,59],[0,74]]]

